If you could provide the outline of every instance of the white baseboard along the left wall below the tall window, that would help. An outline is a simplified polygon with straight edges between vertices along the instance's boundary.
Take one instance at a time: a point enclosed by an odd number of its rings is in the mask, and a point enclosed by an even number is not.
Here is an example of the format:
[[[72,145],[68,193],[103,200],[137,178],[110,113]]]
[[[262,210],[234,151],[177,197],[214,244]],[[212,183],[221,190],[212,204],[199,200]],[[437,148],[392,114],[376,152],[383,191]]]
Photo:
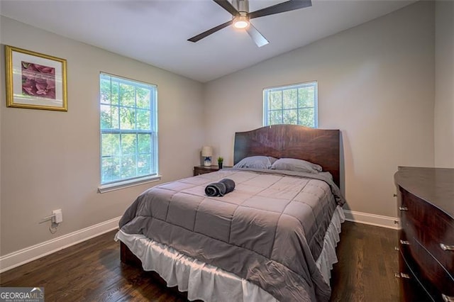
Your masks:
[[[92,237],[99,236],[111,230],[118,228],[118,221],[121,217],[113,218],[111,220],[89,226],[82,230],[77,230],[67,235],[62,235],[55,239],[38,243],[31,247],[12,252],[8,255],[0,257],[0,273],[6,272],[9,269],[26,264],[45,255],[52,254],[71,245],[76,245],[79,242],[89,240]],[[112,237],[112,240],[114,238]]]

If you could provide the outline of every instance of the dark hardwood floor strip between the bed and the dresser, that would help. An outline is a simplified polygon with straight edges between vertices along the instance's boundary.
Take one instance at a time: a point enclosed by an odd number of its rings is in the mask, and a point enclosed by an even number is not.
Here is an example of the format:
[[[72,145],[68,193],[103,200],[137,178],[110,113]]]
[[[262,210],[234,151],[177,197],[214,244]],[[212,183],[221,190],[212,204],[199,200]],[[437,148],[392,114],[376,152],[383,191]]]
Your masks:
[[[397,230],[350,223],[342,225],[331,271],[331,301],[399,301]]]

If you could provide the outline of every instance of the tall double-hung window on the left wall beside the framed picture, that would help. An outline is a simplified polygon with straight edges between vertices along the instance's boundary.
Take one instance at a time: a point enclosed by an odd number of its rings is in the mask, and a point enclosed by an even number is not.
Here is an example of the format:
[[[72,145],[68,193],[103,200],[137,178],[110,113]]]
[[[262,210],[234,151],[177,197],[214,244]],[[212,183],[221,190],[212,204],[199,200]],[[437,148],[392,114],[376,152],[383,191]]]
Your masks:
[[[99,84],[101,184],[157,176],[156,86],[103,73]]]

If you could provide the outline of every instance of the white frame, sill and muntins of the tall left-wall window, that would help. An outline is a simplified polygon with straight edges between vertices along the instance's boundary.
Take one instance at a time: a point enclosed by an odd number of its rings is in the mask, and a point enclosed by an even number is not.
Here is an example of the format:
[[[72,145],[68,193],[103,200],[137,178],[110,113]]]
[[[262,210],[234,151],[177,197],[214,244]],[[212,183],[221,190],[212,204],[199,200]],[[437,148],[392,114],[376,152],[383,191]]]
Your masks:
[[[102,77],[111,77],[111,79],[114,79],[115,82],[125,82],[126,84],[130,84],[133,83],[134,86],[138,87],[138,86],[142,86],[146,89],[150,89],[152,91],[152,95],[151,95],[151,98],[150,98],[150,130],[139,130],[137,128],[134,128],[134,129],[129,129],[129,130],[126,130],[126,129],[120,129],[120,128],[114,128],[114,129],[103,129],[101,127],[101,78]],[[157,145],[157,135],[158,135],[158,131],[157,131],[157,86],[154,85],[154,84],[149,84],[149,83],[146,83],[146,82],[140,82],[140,81],[137,81],[135,79],[128,79],[128,78],[125,78],[125,77],[119,77],[117,75],[114,75],[114,74],[109,74],[109,73],[106,73],[106,72],[101,72],[99,74],[99,89],[100,89],[100,92],[99,92],[99,118],[100,118],[100,121],[99,121],[99,141],[100,141],[100,148],[99,148],[99,159],[100,159],[100,164],[99,164],[99,176],[100,176],[100,182],[101,182],[101,185],[98,187],[98,191],[99,193],[105,193],[105,192],[109,192],[109,191],[114,191],[114,190],[118,190],[118,189],[123,189],[123,188],[128,188],[130,186],[138,186],[140,184],[146,184],[146,183],[149,183],[149,182],[152,182],[152,181],[159,181],[161,179],[161,175],[158,173],[159,169],[158,169],[158,145]],[[135,100],[137,101],[137,99]],[[124,105],[121,105],[121,104],[118,104],[118,111],[120,108],[126,108]],[[137,104],[135,104],[134,106],[131,106],[129,108],[134,108],[134,109],[137,109],[139,108],[137,106]],[[143,110],[143,108],[140,108]],[[120,122],[120,119],[118,118],[118,123],[121,123]],[[137,119],[135,120],[135,123],[136,123],[136,127],[137,127]],[[154,167],[155,167],[155,173],[152,173],[152,174],[147,174],[147,175],[143,175],[143,176],[136,176],[136,177],[130,177],[130,178],[127,178],[127,179],[118,179],[116,181],[106,181],[103,183],[102,181],[102,173],[103,173],[103,168],[102,168],[102,135],[103,134],[107,134],[107,133],[113,133],[113,134],[140,134],[140,133],[148,133],[151,135],[151,138],[152,138],[152,141],[151,141],[151,144],[153,145],[153,150],[155,150],[155,152],[153,153],[153,164],[154,164]],[[137,142],[136,142],[137,143]],[[138,155],[138,150],[136,150],[136,155]]]

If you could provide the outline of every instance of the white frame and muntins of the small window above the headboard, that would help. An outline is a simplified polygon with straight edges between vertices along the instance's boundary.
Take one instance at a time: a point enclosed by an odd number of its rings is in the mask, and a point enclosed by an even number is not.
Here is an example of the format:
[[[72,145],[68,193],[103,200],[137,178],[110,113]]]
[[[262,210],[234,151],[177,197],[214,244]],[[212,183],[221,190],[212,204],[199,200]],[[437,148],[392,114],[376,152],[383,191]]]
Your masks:
[[[300,89],[300,88],[306,88],[306,87],[314,87],[314,106],[306,106],[306,107],[297,107],[295,108],[284,108],[283,104],[283,97],[282,97],[282,108],[280,109],[273,109],[272,111],[281,111],[284,113],[284,110],[295,110],[295,109],[304,109],[304,108],[314,108],[314,125],[305,125],[306,127],[311,127],[311,128],[318,128],[319,127],[319,110],[318,110],[318,99],[319,99],[319,92],[318,92],[318,83],[316,81],[311,81],[311,82],[304,82],[304,83],[299,83],[299,84],[291,84],[291,85],[286,85],[286,86],[277,86],[277,87],[270,87],[270,88],[265,88],[263,89],[263,125],[270,125],[270,92],[272,91],[284,91],[284,90],[290,90],[290,89]],[[297,92],[298,93],[298,92]],[[283,123],[283,116],[282,114],[282,123]],[[296,125],[304,125],[298,123],[299,121],[299,116],[297,116],[297,124]],[[274,124],[271,124],[274,125]]]

